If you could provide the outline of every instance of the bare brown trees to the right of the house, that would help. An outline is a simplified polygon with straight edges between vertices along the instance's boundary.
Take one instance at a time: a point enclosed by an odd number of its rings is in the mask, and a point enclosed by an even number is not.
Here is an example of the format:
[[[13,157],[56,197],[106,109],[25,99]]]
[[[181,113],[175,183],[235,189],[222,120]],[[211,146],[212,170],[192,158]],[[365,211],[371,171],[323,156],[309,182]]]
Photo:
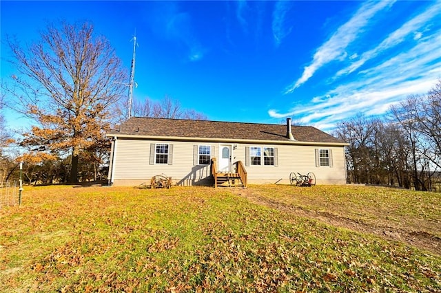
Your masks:
[[[390,107],[386,118],[358,115],[333,134],[349,144],[347,182],[440,191],[441,80]]]

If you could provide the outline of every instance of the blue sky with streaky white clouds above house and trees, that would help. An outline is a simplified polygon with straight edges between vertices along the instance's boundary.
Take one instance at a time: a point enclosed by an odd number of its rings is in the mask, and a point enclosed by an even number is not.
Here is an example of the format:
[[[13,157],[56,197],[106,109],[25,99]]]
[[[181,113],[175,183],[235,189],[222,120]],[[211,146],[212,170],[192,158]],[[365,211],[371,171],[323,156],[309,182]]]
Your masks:
[[[331,131],[441,79],[441,1],[1,1],[0,10],[1,39],[23,44],[45,21],[90,21],[127,72],[136,31],[134,98],[167,95],[209,120],[290,117]],[[8,56],[2,42],[1,78],[14,74]]]

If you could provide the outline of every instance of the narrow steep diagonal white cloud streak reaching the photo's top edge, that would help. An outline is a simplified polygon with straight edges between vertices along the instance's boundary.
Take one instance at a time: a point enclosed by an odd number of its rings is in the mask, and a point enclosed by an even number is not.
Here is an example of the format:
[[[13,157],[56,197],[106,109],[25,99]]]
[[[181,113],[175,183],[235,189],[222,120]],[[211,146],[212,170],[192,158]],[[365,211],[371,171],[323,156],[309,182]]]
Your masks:
[[[340,26],[331,38],[316,50],[311,64],[305,67],[302,76],[285,91],[285,94],[289,94],[297,87],[300,87],[323,65],[342,58],[346,54],[346,47],[359,36],[362,29],[369,23],[369,20],[377,12],[391,6],[394,2],[369,1],[364,3],[347,23]]]

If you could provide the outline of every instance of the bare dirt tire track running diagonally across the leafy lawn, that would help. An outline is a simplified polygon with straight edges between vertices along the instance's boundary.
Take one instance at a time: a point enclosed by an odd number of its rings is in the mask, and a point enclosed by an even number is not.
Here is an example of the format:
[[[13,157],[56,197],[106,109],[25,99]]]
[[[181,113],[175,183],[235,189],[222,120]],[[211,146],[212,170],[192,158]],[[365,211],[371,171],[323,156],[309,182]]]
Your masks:
[[[441,238],[431,235],[428,232],[403,230],[392,226],[369,225],[362,221],[340,217],[327,212],[305,210],[300,206],[289,206],[275,200],[267,199],[266,197],[261,197],[254,194],[248,188],[232,188],[232,191],[236,195],[244,197],[254,204],[275,208],[287,213],[293,213],[300,217],[317,219],[325,224],[338,228],[347,228],[358,232],[371,233],[391,241],[402,241],[422,250],[428,250],[434,254],[441,255]]]

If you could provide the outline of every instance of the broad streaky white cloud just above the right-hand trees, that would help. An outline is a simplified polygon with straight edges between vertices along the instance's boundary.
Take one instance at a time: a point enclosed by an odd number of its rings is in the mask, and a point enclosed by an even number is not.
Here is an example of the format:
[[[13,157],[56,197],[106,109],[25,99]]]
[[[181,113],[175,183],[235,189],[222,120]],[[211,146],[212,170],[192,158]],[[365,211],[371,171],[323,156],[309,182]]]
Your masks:
[[[327,131],[355,113],[382,115],[391,105],[411,94],[426,94],[441,78],[441,30],[413,45],[359,72],[356,80],[315,96],[307,105],[297,105],[285,112],[271,109],[269,116],[291,116]]]

